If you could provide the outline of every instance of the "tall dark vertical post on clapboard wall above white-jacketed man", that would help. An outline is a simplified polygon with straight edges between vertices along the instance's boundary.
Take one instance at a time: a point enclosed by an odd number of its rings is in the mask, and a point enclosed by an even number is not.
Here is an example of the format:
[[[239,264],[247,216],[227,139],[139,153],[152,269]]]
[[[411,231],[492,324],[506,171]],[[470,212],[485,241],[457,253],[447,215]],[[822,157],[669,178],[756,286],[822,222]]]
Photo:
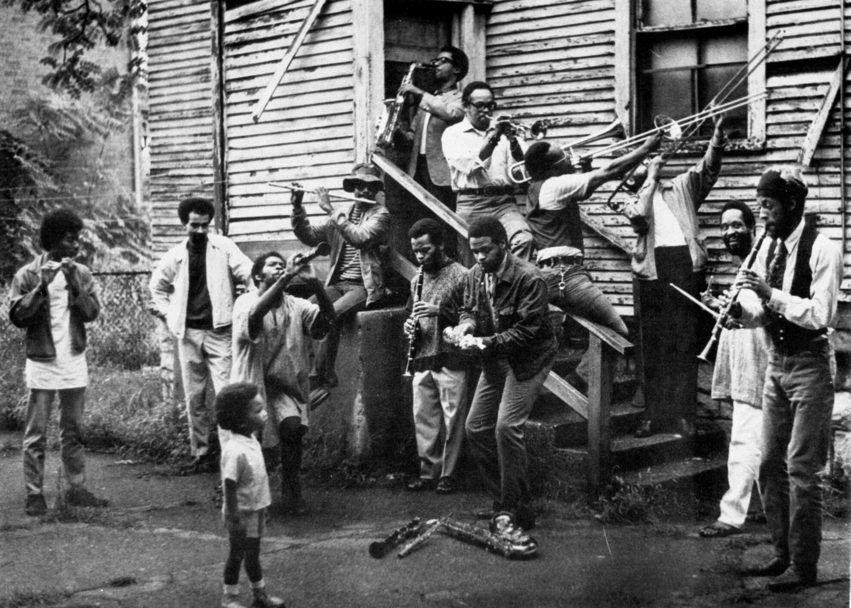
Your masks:
[[[226,185],[226,139],[225,139],[225,87],[222,45],[223,2],[210,2],[210,76],[213,94],[213,204],[214,226],[220,234],[227,234],[227,185]]]

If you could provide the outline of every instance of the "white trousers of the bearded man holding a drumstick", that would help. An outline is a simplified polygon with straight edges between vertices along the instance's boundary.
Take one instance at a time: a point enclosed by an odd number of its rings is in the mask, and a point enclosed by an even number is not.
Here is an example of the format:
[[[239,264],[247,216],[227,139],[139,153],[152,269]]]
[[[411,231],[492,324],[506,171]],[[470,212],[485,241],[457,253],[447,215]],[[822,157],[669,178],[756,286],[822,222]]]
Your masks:
[[[727,455],[728,490],[721,499],[718,521],[740,528],[745,525],[753,484],[762,457],[762,410],[733,400],[733,429]]]

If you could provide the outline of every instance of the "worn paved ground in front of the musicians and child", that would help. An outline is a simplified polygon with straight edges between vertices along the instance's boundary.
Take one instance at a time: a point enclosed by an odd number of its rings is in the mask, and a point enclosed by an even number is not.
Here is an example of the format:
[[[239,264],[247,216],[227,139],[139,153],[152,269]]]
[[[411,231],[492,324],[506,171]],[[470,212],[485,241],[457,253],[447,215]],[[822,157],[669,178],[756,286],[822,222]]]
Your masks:
[[[151,464],[89,455],[89,486],[111,500],[71,521],[23,514],[16,438],[0,437],[0,606],[194,608],[216,606],[227,542],[212,502],[212,474],[163,474]],[[48,502],[57,493],[58,453],[48,455]],[[289,608],[369,606],[848,606],[851,526],[825,526],[821,584],[768,594],[743,563],[770,556],[764,526],[717,541],[697,523],[602,526],[544,515],[540,556],[509,561],[435,535],[399,560],[368,556],[368,544],[414,515],[472,522],[481,494],[437,497],[398,489],[308,487],[313,514],[271,518],[261,558],[269,588]],[[243,575],[243,599],[248,584]]]

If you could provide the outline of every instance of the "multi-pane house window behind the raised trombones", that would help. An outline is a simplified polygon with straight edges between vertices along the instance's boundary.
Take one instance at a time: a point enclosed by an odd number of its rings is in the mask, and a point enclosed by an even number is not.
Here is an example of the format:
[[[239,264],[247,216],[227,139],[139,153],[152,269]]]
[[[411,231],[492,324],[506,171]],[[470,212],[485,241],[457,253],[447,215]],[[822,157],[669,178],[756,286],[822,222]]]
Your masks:
[[[745,65],[747,0],[639,0],[637,5],[637,128],[643,132],[653,128],[655,116],[678,120],[705,109]],[[742,82],[724,96],[732,101],[747,94]],[[748,137],[747,106],[729,111],[724,127],[733,138]],[[700,136],[711,132],[712,122],[706,121]]]

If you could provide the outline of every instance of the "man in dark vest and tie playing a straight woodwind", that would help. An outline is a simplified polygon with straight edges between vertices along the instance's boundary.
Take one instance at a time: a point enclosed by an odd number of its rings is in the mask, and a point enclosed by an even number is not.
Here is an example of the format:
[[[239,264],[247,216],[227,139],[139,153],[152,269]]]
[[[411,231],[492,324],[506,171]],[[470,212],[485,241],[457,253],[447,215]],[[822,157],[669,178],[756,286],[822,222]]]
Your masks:
[[[833,410],[827,327],[842,282],[839,248],[803,219],[807,186],[800,169],[772,168],[757,185],[768,236],[731,315],[768,334],[762,393],[759,486],[774,543],[774,559],[746,571],[774,577],[772,591],[816,582],[821,545],[822,490]]]

